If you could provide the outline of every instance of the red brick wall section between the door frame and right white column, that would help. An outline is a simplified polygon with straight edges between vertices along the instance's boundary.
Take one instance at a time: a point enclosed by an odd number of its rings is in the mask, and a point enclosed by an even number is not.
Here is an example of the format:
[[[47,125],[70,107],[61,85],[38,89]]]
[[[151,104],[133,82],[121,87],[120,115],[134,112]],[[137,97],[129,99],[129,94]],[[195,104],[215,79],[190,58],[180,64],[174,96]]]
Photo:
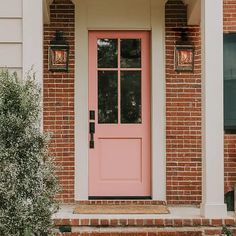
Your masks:
[[[174,70],[177,28],[186,26],[181,0],[166,4],[166,158],[169,204],[201,202],[201,55],[200,28],[189,26],[195,45],[194,72]]]

